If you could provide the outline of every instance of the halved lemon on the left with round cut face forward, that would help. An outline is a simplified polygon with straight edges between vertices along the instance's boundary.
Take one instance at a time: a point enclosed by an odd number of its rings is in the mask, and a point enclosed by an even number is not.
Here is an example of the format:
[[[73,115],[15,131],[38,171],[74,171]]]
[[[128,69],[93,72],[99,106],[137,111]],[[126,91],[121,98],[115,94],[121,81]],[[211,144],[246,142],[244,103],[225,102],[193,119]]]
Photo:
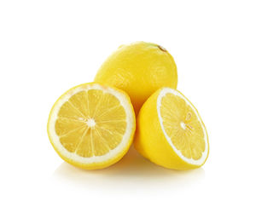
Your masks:
[[[84,83],[55,102],[48,135],[67,163],[102,169],[128,151],[135,133],[135,115],[125,92],[98,83]]]

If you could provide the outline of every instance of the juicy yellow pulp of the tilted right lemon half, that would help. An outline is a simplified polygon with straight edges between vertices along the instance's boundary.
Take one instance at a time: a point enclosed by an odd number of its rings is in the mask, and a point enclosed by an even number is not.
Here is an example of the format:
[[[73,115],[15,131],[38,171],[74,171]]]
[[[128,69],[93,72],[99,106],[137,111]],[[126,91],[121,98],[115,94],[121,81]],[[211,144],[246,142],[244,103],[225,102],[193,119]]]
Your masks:
[[[160,116],[172,144],[185,158],[198,160],[206,149],[202,125],[185,100],[167,93],[161,99]]]

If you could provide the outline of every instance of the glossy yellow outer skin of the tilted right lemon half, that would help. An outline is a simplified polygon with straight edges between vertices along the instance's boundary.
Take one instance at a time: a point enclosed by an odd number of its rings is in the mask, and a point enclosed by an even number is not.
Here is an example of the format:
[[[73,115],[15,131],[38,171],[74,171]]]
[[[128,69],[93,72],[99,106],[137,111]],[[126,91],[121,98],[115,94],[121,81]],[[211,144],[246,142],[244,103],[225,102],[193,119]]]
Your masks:
[[[179,158],[166,140],[157,113],[157,98],[160,91],[161,89],[148,98],[137,116],[137,130],[134,140],[134,146],[137,152],[142,154],[143,157],[148,158],[154,164],[168,169],[184,170],[201,167],[204,163],[194,165]]]

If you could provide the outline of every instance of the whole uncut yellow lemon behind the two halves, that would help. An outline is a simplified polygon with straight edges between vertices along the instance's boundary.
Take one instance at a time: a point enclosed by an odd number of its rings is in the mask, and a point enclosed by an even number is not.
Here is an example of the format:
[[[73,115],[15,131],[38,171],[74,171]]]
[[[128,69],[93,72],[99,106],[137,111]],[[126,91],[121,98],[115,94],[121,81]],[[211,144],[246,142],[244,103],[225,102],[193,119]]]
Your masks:
[[[125,90],[136,114],[161,87],[177,88],[177,66],[160,45],[137,42],[122,45],[102,64],[95,82]]]

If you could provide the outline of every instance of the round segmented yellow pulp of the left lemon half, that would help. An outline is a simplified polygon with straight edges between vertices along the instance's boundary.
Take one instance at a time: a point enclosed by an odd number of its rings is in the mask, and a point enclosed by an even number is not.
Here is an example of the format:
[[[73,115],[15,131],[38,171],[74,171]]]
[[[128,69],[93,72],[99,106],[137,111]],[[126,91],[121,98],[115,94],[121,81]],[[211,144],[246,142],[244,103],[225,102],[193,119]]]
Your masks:
[[[125,129],[125,110],[119,100],[96,89],[73,95],[61,106],[55,123],[62,146],[86,158],[118,146]]]

